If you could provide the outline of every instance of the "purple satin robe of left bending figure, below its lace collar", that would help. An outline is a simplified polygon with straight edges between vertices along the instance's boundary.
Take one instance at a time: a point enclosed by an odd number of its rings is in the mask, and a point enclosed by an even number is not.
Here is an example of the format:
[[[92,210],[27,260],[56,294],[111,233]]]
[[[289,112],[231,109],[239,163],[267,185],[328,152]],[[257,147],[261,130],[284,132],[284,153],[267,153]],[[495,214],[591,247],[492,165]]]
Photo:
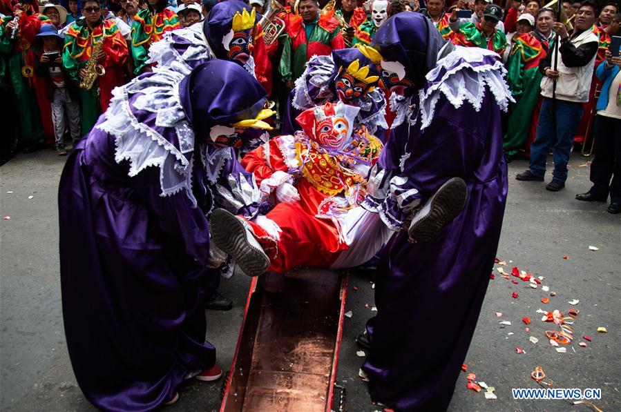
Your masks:
[[[200,292],[218,273],[204,268],[204,210],[192,208],[183,191],[161,197],[157,168],[128,177],[114,147],[113,137],[93,129],[61,177],[65,333],[90,402],[107,411],[152,411],[187,373],[216,361],[216,349],[205,342]],[[204,186],[195,179],[193,188],[204,204]]]

